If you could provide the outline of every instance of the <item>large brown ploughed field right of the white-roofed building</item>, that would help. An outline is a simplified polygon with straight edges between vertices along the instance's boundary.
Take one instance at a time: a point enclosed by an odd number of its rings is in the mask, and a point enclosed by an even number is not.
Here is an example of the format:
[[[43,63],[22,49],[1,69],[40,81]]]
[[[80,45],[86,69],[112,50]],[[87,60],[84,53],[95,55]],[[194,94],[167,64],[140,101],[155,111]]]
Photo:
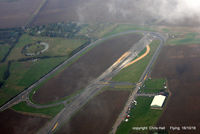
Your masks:
[[[200,45],[165,46],[152,77],[167,78],[171,96],[158,125],[196,126],[200,133]]]

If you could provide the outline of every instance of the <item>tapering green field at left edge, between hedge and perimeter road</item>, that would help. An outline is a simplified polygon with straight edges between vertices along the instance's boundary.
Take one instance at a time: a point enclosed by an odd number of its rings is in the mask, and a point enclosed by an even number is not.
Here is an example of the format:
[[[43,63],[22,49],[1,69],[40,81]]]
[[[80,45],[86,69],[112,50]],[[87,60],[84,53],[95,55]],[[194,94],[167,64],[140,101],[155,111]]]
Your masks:
[[[40,79],[60,64],[65,57],[41,59],[36,62],[13,62],[10,76],[0,90],[0,105]]]

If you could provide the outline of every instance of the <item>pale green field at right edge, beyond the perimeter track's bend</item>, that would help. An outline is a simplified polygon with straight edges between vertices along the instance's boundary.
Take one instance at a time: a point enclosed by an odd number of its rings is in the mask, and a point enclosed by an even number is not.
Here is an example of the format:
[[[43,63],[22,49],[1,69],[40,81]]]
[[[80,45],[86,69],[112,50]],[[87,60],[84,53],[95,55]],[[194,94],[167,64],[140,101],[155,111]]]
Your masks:
[[[170,39],[167,41],[168,45],[181,45],[181,44],[199,44],[200,38],[198,33],[188,33],[182,38]]]

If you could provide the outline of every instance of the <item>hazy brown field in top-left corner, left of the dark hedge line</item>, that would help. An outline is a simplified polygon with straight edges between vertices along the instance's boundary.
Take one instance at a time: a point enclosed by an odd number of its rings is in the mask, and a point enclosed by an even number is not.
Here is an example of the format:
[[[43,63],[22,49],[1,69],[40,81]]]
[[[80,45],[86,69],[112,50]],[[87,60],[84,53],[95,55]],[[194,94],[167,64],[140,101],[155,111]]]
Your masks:
[[[41,0],[0,1],[0,28],[24,26]]]

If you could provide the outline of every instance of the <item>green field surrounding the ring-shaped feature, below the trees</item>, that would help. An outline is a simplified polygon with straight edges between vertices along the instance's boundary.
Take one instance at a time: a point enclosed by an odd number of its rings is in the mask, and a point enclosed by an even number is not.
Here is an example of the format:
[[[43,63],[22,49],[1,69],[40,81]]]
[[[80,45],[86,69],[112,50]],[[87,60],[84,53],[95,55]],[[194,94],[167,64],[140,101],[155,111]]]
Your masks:
[[[49,49],[39,56],[69,56],[69,54],[86,40],[79,39],[64,39],[64,38],[50,38],[50,37],[35,37],[24,34],[15,48],[11,51],[7,60],[18,60],[20,58],[28,58],[34,56],[25,56],[21,53],[23,47],[27,44],[36,43],[37,41],[46,42],[49,44]]]

